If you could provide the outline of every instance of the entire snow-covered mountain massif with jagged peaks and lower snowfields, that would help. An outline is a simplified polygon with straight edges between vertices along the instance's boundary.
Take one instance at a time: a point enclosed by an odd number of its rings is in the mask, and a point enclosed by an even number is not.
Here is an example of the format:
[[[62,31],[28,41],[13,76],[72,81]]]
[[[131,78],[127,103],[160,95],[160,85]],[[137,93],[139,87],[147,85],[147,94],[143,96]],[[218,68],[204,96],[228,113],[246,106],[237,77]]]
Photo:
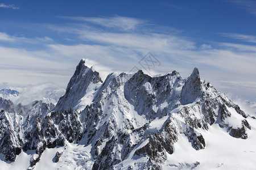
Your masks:
[[[0,99],[5,168],[254,168],[255,117],[202,82],[196,68],[187,79],[139,70],[102,82],[82,59],[55,108]]]

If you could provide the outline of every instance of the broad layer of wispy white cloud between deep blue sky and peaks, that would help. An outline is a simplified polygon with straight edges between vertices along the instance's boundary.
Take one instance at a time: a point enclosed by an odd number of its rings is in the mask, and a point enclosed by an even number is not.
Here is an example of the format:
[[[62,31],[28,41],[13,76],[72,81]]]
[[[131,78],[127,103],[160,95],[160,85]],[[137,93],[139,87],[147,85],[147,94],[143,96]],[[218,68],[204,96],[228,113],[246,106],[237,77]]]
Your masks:
[[[152,73],[164,74],[177,70],[181,75],[189,76],[193,67],[198,67],[201,78],[210,80],[213,85],[217,84],[220,90],[240,91],[242,94],[246,91],[243,87],[247,84],[246,86],[250,86],[247,88],[250,90],[248,94],[256,95],[256,91],[251,90],[255,89],[253,82],[256,78],[255,45],[223,42],[198,44],[174,28],[154,25],[147,20],[136,18],[114,16],[63,19],[68,19],[68,23],[40,24],[40,28],[45,31],[40,32],[40,35],[45,37],[43,40],[0,33],[0,41],[12,42],[9,45],[21,44],[19,48],[0,44],[1,79],[10,79],[10,75],[13,75],[20,82],[30,82],[29,77],[32,77],[37,81],[56,80],[62,86],[66,86],[81,58],[97,61],[112,68],[110,71],[128,72],[134,66],[143,69],[138,62],[145,54],[151,52],[162,63]],[[28,29],[34,27],[39,28],[35,24],[30,25]],[[48,32],[54,33],[57,37],[47,38]],[[251,37],[234,33],[222,36],[254,41]],[[40,48],[28,50],[27,45],[22,46],[23,40],[38,42]],[[1,69],[1,66],[5,66],[4,69]],[[9,69],[6,70],[6,66]],[[236,78],[241,79],[233,86]],[[226,82],[223,82],[223,79]]]

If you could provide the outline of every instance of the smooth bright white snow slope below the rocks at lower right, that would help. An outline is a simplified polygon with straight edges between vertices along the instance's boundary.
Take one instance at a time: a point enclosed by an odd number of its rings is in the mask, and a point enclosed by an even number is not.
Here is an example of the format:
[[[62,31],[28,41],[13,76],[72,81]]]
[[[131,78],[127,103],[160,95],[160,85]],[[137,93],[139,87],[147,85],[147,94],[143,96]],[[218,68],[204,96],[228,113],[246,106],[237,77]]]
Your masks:
[[[249,119],[252,127],[246,140],[231,137],[218,125],[209,127],[208,131],[200,130],[205,138],[204,150],[196,151],[184,135],[175,143],[175,152],[168,155],[163,169],[190,169],[199,162],[195,169],[255,169],[256,162],[256,124]]]

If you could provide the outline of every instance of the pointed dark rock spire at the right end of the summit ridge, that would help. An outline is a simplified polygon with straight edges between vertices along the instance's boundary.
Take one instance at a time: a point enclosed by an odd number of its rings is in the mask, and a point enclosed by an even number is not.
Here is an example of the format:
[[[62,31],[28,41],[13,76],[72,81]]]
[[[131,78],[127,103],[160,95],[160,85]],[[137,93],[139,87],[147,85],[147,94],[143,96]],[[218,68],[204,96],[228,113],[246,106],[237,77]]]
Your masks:
[[[199,76],[199,71],[195,68],[185,81],[185,84],[181,91],[180,103],[185,105],[193,103],[198,97],[201,96],[201,80]]]

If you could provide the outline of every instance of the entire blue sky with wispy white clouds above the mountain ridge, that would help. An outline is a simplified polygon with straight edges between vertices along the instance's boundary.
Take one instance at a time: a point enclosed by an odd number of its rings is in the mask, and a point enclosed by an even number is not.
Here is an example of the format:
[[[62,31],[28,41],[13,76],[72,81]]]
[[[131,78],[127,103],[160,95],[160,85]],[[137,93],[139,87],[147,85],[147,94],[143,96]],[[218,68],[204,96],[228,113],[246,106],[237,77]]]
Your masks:
[[[256,1],[0,1],[0,83],[66,87],[81,58],[111,71],[160,65],[256,100]]]

